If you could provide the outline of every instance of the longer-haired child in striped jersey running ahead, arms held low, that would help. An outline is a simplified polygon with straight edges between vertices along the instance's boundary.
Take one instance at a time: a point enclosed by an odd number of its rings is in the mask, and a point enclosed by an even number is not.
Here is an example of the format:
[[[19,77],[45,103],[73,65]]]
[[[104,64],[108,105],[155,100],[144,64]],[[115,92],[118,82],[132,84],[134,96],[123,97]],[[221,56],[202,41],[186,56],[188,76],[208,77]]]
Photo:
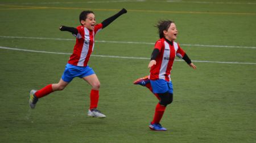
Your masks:
[[[146,86],[159,99],[155,108],[154,118],[149,125],[150,129],[154,131],[167,131],[160,124],[160,120],[166,110],[166,106],[173,100],[170,73],[174,59],[176,56],[184,59],[193,69],[196,69],[196,66],[191,62],[179,44],[174,42],[177,38],[177,28],[173,21],[159,21],[156,27],[158,27],[160,39],[155,43],[155,48],[152,51],[151,60],[148,64],[150,75],[134,81],[134,84]]]

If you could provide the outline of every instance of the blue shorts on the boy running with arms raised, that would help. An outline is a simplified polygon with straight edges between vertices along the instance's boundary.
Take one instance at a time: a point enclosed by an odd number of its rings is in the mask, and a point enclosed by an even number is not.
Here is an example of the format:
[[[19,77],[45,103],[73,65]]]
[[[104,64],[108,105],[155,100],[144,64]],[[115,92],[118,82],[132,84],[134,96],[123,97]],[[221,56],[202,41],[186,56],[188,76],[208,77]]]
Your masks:
[[[70,81],[73,80],[74,77],[82,78],[82,77],[93,75],[93,74],[95,74],[95,72],[89,66],[80,67],[80,66],[74,66],[72,64],[67,63],[67,65],[65,66],[65,71],[61,76],[61,79],[69,83]]]

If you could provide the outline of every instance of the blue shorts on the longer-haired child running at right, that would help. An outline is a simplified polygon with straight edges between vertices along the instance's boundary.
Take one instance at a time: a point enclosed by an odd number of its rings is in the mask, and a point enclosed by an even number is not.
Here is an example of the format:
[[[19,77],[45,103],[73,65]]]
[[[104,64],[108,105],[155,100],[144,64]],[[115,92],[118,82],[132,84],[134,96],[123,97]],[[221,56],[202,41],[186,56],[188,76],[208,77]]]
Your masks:
[[[153,89],[153,93],[174,93],[174,88],[172,88],[172,81],[160,80],[150,80],[150,84]]]

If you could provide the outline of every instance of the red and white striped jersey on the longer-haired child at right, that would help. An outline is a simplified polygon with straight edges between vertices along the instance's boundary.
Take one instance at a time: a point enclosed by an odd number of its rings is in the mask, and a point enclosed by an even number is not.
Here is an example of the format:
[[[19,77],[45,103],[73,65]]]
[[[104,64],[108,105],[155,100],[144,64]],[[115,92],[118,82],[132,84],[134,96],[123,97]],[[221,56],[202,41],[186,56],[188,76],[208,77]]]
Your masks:
[[[174,59],[177,55],[179,58],[183,58],[185,51],[180,48],[180,45],[176,42],[169,44],[164,38],[159,39],[155,43],[155,48],[159,49],[160,53],[156,57],[156,64],[150,69],[150,80],[164,79],[171,81],[171,70]]]

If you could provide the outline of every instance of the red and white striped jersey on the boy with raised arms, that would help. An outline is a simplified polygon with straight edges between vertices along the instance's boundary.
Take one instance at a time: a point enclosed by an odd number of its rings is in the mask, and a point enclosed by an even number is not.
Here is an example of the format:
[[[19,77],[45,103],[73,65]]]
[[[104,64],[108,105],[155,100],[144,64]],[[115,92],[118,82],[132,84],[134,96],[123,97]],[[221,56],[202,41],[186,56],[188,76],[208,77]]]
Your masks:
[[[102,29],[102,24],[96,24],[93,31],[90,31],[86,27],[77,27],[78,33],[76,36],[76,45],[73,49],[73,54],[68,60],[69,64],[74,66],[87,66],[94,48],[94,36]]]

